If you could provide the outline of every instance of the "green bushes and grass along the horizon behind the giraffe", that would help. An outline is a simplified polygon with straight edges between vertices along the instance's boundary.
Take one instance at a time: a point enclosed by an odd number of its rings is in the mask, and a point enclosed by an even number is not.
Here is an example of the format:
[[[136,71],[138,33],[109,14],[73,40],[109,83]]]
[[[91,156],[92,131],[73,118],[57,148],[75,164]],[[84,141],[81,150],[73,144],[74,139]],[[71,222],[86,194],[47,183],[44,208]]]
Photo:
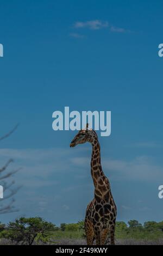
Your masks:
[[[136,220],[116,222],[115,236],[116,244],[163,244],[163,221],[143,225]],[[40,217],[22,217],[7,225],[0,223],[0,244],[84,245],[84,222],[61,223],[57,227]]]

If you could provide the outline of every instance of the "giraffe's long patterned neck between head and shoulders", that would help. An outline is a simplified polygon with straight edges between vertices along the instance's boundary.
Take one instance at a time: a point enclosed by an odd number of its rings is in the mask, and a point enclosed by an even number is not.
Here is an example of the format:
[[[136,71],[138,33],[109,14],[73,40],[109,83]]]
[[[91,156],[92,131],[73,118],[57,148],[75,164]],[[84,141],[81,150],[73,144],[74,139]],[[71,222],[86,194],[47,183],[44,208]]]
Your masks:
[[[100,145],[97,139],[92,142],[91,175],[95,186],[95,199],[99,202],[109,200],[110,185],[102,170]]]

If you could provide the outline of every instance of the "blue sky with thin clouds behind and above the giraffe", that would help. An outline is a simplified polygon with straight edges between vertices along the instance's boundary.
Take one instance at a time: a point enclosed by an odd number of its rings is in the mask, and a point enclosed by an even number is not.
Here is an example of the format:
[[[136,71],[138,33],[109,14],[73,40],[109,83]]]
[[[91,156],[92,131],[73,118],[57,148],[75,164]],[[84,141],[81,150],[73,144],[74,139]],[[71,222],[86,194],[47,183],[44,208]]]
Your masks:
[[[117,220],[162,220],[162,1],[1,1],[1,166],[10,157],[23,187],[15,217],[56,224],[84,218],[93,197],[91,146],[53,131],[52,113],[111,111],[100,137]]]

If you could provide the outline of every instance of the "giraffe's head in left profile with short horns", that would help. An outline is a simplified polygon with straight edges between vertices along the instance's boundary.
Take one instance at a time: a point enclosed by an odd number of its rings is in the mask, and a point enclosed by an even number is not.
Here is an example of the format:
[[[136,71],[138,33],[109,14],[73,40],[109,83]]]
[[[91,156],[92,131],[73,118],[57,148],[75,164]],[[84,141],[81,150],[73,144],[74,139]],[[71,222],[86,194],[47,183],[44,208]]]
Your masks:
[[[80,130],[70,143],[70,147],[73,148],[78,144],[84,144],[85,142],[92,143],[94,139],[97,139],[97,134],[94,130],[88,129],[89,124],[86,124],[85,130]]]

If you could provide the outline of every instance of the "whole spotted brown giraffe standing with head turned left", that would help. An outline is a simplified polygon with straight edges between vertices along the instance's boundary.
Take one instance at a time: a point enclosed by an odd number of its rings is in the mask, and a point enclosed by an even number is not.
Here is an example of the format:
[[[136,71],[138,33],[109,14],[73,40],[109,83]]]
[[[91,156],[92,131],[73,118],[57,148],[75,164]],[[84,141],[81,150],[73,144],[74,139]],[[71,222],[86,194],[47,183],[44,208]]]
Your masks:
[[[92,144],[91,176],[95,186],[95,196],[87,205],[85,215],[86,242],[87,245],[92,245],[93,241],[96,240],[96,245],[105,245],[108,234],[110,234],[110,243],[115,245],[116,205],[112,197],[109,180],[102,170],[97,133],[88,129],[88,124],[85,130],[80,130],[77,133],[70,147],[85,142]]]

